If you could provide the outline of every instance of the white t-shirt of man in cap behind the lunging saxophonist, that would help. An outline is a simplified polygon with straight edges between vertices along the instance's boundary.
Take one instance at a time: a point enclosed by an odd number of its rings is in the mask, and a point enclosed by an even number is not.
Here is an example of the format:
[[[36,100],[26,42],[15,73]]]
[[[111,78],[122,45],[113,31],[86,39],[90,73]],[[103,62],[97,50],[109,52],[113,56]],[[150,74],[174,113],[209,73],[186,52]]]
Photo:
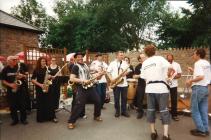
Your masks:
[[[90,70],[94,70],[97,72],[100,72],[102,70],[107,70],[108,65],[105,62],[100,62],[99,60],[95,60],[91,63],[90,65]],[[106,83],[106,78],[105,76],[102,76],[100,80],[98,80],[99,83]]]

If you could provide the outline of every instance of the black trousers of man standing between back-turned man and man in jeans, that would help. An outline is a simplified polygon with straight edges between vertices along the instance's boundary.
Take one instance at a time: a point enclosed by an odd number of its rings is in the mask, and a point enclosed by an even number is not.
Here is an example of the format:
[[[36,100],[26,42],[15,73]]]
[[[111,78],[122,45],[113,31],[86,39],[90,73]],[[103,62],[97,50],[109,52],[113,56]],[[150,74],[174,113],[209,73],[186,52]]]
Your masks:
[[[177,116],[177,87],[170,88],[171,95],[171,115]]]

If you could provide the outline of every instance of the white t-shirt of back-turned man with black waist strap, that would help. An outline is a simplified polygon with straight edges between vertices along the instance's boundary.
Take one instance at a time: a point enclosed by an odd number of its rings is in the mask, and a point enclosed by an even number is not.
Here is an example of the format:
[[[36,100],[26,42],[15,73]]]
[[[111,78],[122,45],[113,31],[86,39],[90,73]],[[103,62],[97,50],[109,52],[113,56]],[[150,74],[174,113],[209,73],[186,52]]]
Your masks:
[[[167,80],[168,68],[171,67],[170,63],[161,56],[152,56],[143,62],[141,68],[141,78],[150,81],[163,81]],[[167,86],[163,83],[146,84],[146,93],[169,93]]]

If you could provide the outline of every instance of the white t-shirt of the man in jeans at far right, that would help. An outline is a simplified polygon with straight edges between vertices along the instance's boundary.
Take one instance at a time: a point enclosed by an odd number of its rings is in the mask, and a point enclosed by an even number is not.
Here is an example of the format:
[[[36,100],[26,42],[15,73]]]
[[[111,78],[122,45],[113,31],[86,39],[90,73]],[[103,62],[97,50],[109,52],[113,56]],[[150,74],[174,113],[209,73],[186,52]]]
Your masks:
[[[207,60],[200,59],[194,64],[193,79],[197,76],[204,76],[204,79],[198,82],[193,82],[192,86],[200,85],[207,86],[211,80],[210,63]]]

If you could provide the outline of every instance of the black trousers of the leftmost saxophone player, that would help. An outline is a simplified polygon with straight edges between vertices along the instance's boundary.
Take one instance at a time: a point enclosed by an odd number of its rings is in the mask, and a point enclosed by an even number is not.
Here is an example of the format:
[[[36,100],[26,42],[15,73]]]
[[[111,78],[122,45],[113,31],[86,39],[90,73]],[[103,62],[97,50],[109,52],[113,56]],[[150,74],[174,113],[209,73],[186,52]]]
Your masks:
[[[17,92],[12,92],[8,89],[7,98],[10,106],[10,115],[13,121],[18,122],[18,110],[20,111],[20,121],[26,120],[26,105],[27,105],[27,93],[25,88],[20,86]]]

